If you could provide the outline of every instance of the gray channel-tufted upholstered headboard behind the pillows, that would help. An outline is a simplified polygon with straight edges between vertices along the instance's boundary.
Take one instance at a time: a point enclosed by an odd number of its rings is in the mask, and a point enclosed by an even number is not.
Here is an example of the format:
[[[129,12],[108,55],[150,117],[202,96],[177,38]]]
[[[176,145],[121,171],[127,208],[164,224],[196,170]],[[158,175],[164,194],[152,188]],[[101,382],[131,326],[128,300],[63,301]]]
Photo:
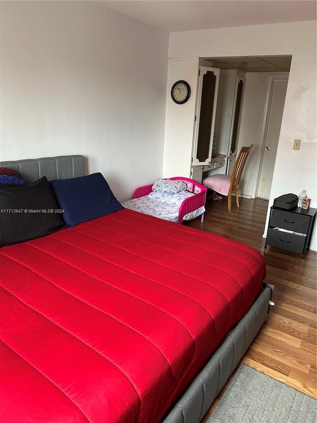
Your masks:
[[[51,181],[85,175],[84,156],[81,155],[6,161],[0,162],[0,167],[14,170],[26,182],[37,181],[43,176]]]

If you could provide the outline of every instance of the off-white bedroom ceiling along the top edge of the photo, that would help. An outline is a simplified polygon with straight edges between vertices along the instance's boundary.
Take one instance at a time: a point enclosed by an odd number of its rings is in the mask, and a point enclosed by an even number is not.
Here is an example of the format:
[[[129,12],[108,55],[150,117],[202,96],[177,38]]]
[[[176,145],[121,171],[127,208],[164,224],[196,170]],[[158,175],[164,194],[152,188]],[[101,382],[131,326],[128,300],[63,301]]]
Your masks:
[[[168,32],[317,19],[316,0],[99,0]]]

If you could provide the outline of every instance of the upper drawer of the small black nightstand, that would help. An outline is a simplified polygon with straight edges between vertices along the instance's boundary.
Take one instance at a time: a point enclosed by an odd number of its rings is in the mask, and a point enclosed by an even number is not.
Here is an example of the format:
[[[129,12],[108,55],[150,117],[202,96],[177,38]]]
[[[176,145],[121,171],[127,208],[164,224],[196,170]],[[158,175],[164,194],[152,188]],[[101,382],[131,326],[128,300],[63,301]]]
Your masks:
[[[272,210],[269,225],[307,234],[310,225],[310,218],[302,214],[290,213],[282,210]]]

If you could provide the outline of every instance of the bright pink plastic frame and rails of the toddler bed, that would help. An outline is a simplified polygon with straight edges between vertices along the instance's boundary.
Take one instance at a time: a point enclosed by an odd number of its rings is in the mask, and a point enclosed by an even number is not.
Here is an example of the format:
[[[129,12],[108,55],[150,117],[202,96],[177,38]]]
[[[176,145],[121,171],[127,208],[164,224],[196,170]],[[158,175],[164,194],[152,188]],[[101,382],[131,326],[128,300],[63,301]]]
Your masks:
[[[167,178],[163,178],[163,179],[167,179]],[[199,209],[200,207],[205,206],[208,188],[206,186],[201,185],[200,183],[196,181],[193,181],[192,179],[184,178],[181,176],[168,178],[168,179],[170,179],[171,181],[184,181],[185,183],[186,182],[192,183],[191,189],[187,188],[187,191],[193,192],[194,194],[196,194],[196,195],[193,195],[192,197],[186,198],[186,200],[182,202],[179,208],[178,223],[183,223],[183,218],[187,213],[190,213],[194,210]],[[150,194],[150,192],[152,192],[152,186],[153,186],[153,183],[151,183],[150,185],[140,186],[134,191],[133,198],[144,197],[145,195]],[[203,213],[201,217],[202,222],[204,222],[204,215],[205,213]]]

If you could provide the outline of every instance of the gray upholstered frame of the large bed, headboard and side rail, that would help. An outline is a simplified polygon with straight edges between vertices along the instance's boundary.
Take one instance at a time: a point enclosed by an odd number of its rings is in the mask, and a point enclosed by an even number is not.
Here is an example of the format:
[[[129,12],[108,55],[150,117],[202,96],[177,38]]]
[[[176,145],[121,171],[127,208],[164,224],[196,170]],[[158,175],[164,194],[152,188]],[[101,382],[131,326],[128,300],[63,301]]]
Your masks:
[[[43,176],[46,176],[48,180],[84,176],[84,163],[83,156],[73,155],[6,161],[0,162],[0,167],[13,169],[25,181],[33,182]],[[164,417],[162,423],[201,422],[264,324],[269,312],[273,288],[273,285],[263,283],[263,291],[257,300],[228,333],[205,367]]]

